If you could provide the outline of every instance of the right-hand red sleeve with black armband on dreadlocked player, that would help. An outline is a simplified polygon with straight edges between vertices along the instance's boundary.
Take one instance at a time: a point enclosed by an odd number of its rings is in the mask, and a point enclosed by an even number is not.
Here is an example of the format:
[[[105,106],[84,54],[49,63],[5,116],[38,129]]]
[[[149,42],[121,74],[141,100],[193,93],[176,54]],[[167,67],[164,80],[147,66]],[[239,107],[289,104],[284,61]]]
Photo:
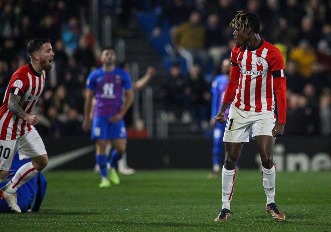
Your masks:
[[[278,48],[270,55],[268,60],[272,71],[273,90],[277,99],[278,123],[286,123],[286,77],[283,56]]]

